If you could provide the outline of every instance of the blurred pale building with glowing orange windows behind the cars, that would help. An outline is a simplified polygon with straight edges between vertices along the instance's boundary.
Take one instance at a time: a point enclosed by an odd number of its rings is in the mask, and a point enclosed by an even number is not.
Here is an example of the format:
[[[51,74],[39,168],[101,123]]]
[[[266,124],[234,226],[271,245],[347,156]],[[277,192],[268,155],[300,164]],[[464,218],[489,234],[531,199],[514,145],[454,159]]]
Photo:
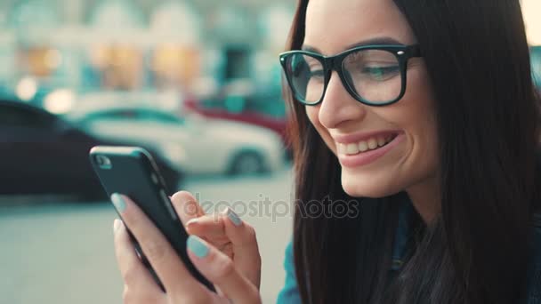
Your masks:
[[[200,78],[220,86],[276,67],[293,4],[8,0],[0,11],[0,60],[15,62],[2,83],[16,87],[29,76],[36,91],[59,84],[78,91],[190,90],[200,88]]]

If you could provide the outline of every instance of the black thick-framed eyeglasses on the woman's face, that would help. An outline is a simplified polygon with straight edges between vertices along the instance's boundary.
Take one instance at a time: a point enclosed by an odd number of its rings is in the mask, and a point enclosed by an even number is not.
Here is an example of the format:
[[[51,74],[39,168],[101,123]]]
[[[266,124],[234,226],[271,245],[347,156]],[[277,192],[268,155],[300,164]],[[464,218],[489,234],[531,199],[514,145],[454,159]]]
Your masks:
[[[355,100],[381,107],[404,96],[408,60],[413,57],[421,57],[418,45],[364,45],[335,56],[283,52],[279,60],[295,99],[305,105],[323,100],[335,70]]]

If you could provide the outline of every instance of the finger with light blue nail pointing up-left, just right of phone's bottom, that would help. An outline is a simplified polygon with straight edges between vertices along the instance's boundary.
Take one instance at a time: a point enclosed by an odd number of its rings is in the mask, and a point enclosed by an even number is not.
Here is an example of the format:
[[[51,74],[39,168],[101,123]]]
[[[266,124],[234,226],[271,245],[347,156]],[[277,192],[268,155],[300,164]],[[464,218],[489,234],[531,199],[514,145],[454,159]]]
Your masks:
[[[217,286],[232,302],[259,302],[258,289],[242,276],[230,258],[198,236],[189,236],[188,255],[203,276]]]

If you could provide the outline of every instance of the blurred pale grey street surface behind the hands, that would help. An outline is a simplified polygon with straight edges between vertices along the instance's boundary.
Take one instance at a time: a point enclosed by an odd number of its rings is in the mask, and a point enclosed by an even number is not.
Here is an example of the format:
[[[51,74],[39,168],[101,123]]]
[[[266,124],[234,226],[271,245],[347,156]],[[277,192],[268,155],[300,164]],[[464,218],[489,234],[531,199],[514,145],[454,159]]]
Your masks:
[[[275,302],[284,283],[282,261],[291,236],[293,214],[287,208],[292,188],[289,169],[262,177],[192,179],[183,186],[206,205],[233,205],[254,226],[262,254],[265,303]],[[109,202],[6,207],[1,204],[5,200],[0,200],[0,303],[122,302],[113,251],[116,213]]]

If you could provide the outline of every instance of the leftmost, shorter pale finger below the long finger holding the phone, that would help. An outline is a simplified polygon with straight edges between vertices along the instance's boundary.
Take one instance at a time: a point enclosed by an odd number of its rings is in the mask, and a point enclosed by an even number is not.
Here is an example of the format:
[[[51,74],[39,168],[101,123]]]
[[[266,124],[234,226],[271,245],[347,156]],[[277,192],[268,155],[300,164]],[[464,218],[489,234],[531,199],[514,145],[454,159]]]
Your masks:
[[[145,268],[133,249],[132,240],[121,220],[115,220],[115,255],[118,268],[126,285],[134,288],[148,288],[149,292],[163,293],[149,270]]]

